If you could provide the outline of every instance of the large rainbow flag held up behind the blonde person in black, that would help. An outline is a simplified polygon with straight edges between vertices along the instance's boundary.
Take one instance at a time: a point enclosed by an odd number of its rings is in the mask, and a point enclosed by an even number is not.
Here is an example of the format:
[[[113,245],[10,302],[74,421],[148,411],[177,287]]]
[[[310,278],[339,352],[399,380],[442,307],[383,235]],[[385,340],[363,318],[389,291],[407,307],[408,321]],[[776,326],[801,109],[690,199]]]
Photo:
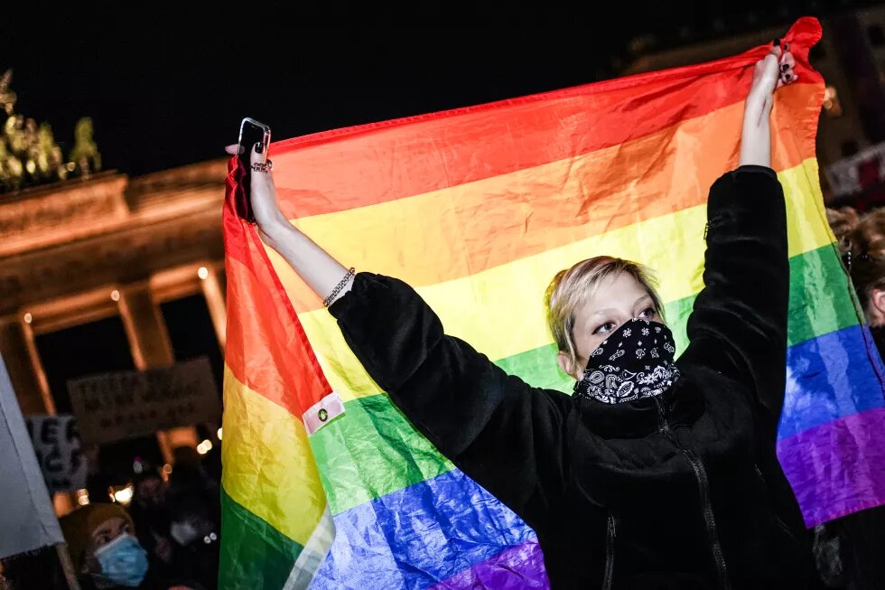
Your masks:
[[[789,219],[789,375],[778,454],[809,526],[885,503],[881,361],[826,224],[815,161],[820,25],[787,33],[773,166]],[[528,382],[571,391],[543,294],[599,254],[657,270],[685,347],[705,203],[737,164],[768,47],[701,65],[271,147],[288,219],[345,266],[415,286],[446,332]],[[535,533],[455,469],[369,379],[321,301],[233,208],[223,588],[545,587]],[[760,286],[764,288],[764,286]]]

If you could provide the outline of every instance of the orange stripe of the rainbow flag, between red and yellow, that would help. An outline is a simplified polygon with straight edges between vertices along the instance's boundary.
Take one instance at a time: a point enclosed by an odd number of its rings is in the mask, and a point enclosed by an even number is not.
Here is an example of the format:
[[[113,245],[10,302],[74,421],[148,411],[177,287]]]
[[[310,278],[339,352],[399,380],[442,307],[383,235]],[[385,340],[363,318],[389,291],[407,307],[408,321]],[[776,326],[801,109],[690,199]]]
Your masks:
[[[809,92],[816,89],[787,87],[778,92],[776,108],[795,110]],[[398,276],[413,286],[470,276],[703,204],[716,177],[737,164],[736,143],[722,137],[740,136],[742,112],[743,105],[734,104],[591,154],[295,225],[347,266]],[[782,119],[775,118],[777,170],[802,161],[791,145],[795,130]],[[659,153],[660,145],[674,145],[668,138],[682,136],[690,144]],[[638,168],[641,184],[631,181]],[[539,201],[544,207],[533,207]],[[396,248],[375,247],[379,243]],[[298,313],[321,308],[301,281],[287,286]]]

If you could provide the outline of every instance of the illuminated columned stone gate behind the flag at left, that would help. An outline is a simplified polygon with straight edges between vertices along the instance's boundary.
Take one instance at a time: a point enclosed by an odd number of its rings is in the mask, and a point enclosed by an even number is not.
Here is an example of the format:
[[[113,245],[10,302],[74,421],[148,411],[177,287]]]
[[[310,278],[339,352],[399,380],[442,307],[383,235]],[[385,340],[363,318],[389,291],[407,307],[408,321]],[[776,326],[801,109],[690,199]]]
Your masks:
[[[70,412],[66,379],[91,373],[205,352],[220,378],[225,174],[219,161],[0,194],[0,353],[25,415]],[[200,329],[214,333],[214,355],[193,350]],[[218,417],[206,419],[214,433]],[[189,427],[158,433],[148,458],[171,463],[172,447],[200,438]],[[141,442],[117,454],[144,454]]]

